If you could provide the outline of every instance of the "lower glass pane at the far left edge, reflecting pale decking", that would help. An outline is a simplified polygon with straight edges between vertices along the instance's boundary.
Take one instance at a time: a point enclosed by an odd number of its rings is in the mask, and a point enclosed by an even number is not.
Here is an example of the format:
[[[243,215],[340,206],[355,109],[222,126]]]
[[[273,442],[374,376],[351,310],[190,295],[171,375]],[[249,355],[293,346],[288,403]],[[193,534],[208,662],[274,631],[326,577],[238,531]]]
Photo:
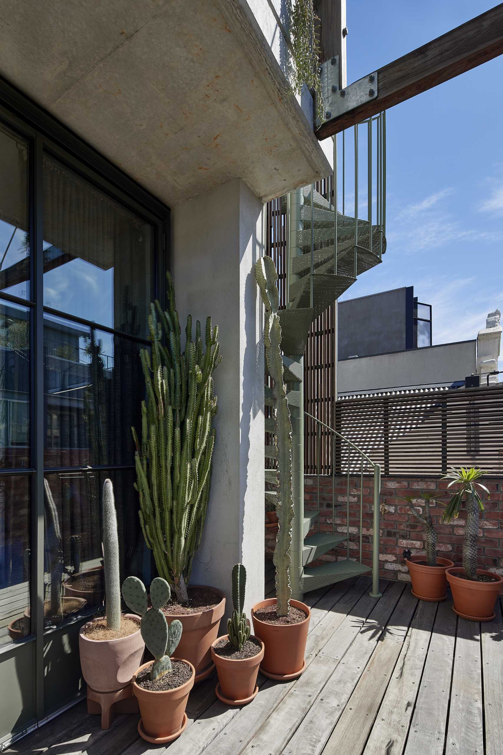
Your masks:
[[[0,476],[0,645],[30,633],[29,477]]]

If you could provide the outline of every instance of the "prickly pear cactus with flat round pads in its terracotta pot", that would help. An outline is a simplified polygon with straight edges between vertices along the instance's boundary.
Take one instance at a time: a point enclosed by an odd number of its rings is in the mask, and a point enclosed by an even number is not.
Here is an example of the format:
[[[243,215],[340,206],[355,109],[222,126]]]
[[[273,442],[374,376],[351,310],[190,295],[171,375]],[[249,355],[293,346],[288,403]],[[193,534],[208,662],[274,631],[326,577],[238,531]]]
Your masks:
[[[171,597],[165,579],[156,577],[147,590],[137,577],[122,584],[122,596],[132,611],[141,615],[141,635],[154,661],[140,666],[133,676],[133,692],[140,706],[138,733],[147,742],[165,744],[181,735],[187,726],[187,698],[194,686],[196,670],[189,661],[170,658],[182,636],[181,621],[168,627],[162,608]]]

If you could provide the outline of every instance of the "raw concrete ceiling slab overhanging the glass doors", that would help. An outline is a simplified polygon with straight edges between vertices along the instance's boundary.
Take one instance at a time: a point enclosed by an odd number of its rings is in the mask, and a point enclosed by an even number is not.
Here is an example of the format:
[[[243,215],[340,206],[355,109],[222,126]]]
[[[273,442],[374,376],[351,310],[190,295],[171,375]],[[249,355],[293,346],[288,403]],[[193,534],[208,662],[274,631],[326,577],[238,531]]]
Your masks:
[[[171,207],[330,172],[245,0],[5,0],[0,74]]]

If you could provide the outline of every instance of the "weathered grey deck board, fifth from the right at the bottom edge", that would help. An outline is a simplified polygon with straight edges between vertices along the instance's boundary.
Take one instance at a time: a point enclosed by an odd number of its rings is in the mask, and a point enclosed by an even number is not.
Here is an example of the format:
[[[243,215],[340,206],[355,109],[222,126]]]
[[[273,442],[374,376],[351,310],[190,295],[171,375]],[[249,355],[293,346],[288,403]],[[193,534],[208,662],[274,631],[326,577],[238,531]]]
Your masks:
[[[418,599],[404,590],[323,753],[361,755],[393,674]]]

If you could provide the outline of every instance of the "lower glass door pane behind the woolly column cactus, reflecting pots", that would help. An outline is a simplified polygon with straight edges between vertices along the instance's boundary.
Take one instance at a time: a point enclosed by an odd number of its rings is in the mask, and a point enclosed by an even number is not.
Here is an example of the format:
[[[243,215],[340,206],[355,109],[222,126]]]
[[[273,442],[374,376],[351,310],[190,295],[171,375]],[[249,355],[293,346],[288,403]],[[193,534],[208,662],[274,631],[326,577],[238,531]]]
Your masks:
[[[144,575],[133,471],[46,475],[46,627],[88,609],[96,612],[103,604],[101,491],[106,477],[112,479],[116,498],[121,581],[128,575]]]

